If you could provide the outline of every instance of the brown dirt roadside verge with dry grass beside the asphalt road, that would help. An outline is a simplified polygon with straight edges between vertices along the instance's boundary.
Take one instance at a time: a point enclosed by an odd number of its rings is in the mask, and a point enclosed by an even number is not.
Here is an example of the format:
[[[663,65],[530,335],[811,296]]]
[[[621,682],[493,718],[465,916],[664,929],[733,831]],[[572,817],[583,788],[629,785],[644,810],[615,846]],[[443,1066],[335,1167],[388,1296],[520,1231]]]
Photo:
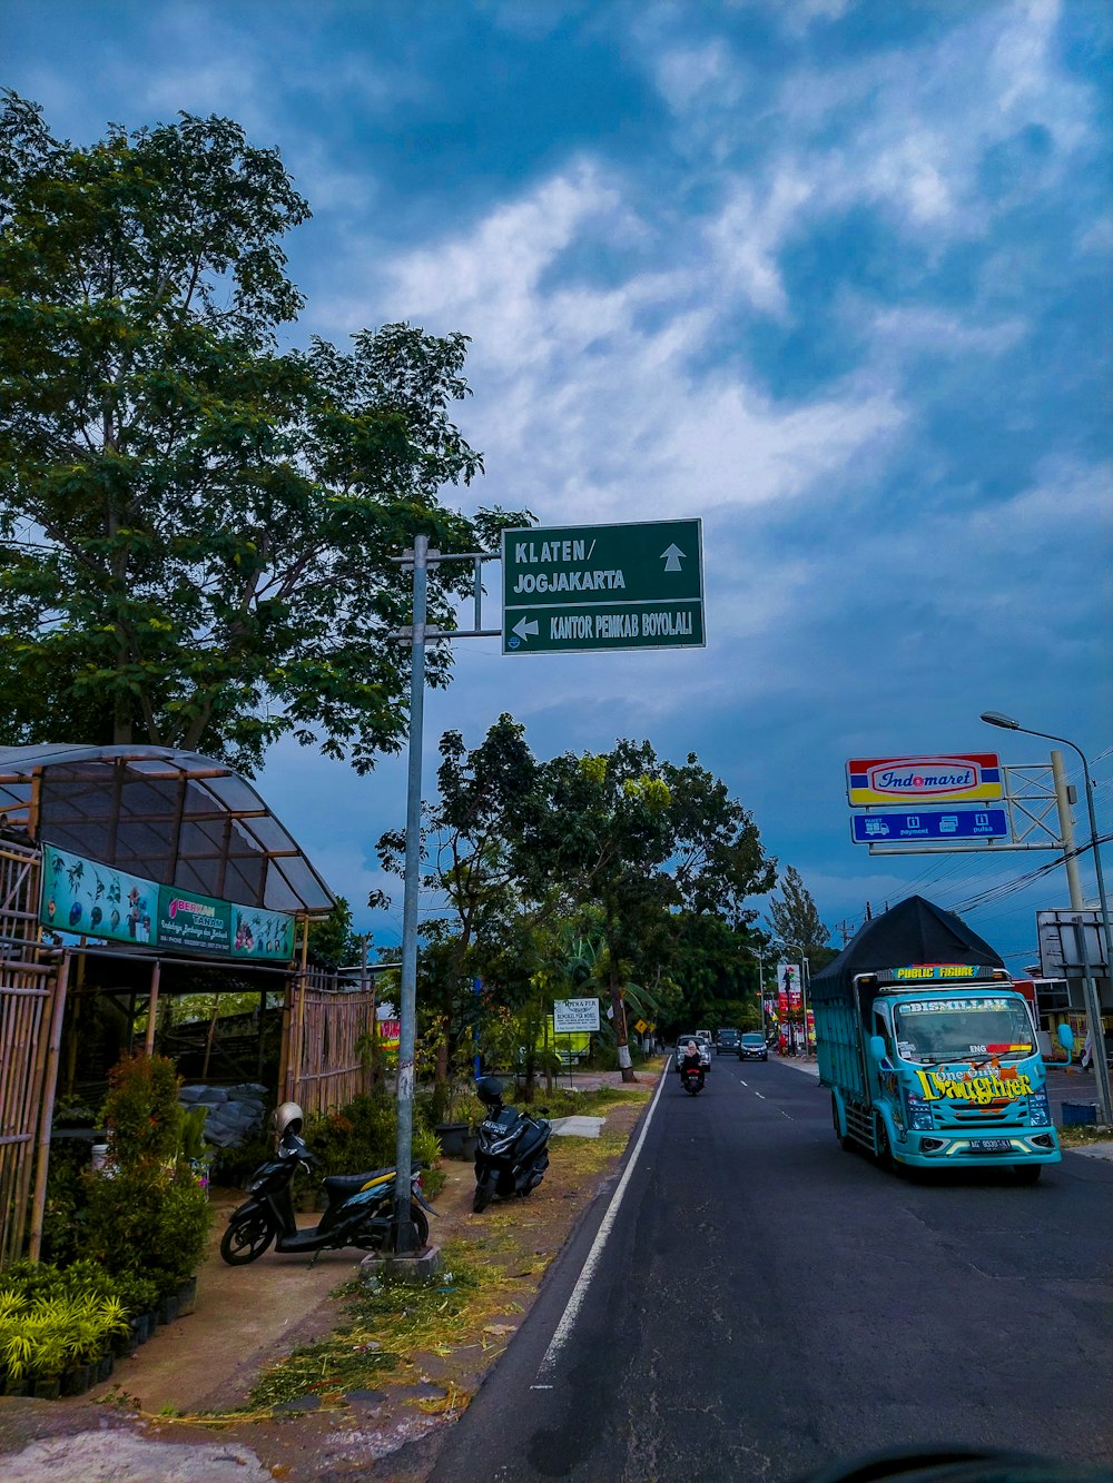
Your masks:
[[[430,1221],[430,1241],[464,1252],[493,1275],[482,1301],[450,1336],[439,1333],[430,1351],[405,1352],[398,1369],[377,1375],[372,1385],[329,1394],[324,1403],[312,1393],[294,1397],[280,1416],[242,1413],[252,1385],[266,1366],[343,1321],[341,1304],[329,1295],[358,1274],[359,1259],[325,1252],[310,1266],[309,1258],[267,1252],[251,1266],[227,1266],[217,1246],[239,1197],[217,1192],[196,1311],[117,1361],[111,1382],[85,1397],[0,1398],[0,1474],[56,1483],[426,1477],[438,1434],[506,1350],[548,1265],[613,1178],[656,1080],[656,1072],[640,1072],[644,1099],[608,1106],[598,1139],[554,1137],[545,1182],[525,1201],[494,1201],[473,1215],[472,1166],[444,1161],[448,1179],[435,1201],[439,1218]],[[576,1084],[619,1086],[620,1075],[577,1075]],[[451,1275],[442,1280],[451,1286]]]

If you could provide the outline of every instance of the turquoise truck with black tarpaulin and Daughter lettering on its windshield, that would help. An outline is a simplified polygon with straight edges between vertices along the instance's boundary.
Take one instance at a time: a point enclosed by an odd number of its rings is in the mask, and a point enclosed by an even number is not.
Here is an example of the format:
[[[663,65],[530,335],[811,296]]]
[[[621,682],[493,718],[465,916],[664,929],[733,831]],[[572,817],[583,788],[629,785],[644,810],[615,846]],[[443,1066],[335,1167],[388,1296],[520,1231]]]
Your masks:
[[[819,1080],[843,1148],[886,1167],[1060,1161],[1028,1001],[987,942],[913,896],[812,979]]]

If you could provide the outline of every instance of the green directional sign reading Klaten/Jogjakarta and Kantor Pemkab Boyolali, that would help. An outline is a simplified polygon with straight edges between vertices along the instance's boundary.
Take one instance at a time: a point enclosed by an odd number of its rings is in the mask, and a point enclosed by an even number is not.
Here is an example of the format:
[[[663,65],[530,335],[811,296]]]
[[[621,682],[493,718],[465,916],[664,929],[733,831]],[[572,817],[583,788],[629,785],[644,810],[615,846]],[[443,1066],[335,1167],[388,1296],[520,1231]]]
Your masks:
[[[503,531],[503,654],[703,644],[699,521]]]

